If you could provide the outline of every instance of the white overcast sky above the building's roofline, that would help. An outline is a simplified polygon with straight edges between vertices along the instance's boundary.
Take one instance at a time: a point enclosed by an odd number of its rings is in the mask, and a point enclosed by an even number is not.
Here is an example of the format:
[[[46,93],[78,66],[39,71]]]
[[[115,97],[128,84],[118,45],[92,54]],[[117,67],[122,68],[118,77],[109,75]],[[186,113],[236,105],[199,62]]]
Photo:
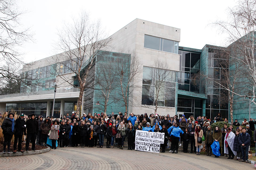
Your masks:
[[[236,5],[235,0],[215,1],[86,1],[86,0],[23,0],[18,3],[27,11],[21,16],[24,27],[31,27],[34,42],[23,45],[24,60],[31,62],[56,54],[54,43],[57,29],[81,10],[90,13],[92,19],[101,19],[109,35],[117,32],[135,18],[181,29],[180,46],[202,49],[205,44],[222,46],[226,36],[209,25],[227,18],[227,8]]]

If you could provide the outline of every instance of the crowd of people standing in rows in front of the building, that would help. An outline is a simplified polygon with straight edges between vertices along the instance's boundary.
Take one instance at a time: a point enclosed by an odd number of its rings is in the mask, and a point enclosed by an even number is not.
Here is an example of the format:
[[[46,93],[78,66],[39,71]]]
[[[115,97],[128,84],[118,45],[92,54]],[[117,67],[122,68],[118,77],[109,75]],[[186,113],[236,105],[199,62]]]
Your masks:
[[[227,159],[239,160],[239,162],[248,163],[248,150],[250,150],[251,136],[255,143],[256,130],[255,119],[248,122],[246,119],[240,124],[237,120],[229,124],[226,118],[222,118],[218,113],[212,120],[207,116],[185,115],[178,118],[178,115],[170,117],[158,116],[158,114],[147,113],[134,115],[127,112],[124,115],[119,112],[117,115],[112,112],[97,114],[83,113],[79,117],[75,112],[69,115],[67,113],[61,118],[43,116],[36,117],[35,114],[29,116],[21,113],[19,116],[14,113],[5,112],[2,116],[2,133],[4,135],[3,153],[10,153],[11,139],[14,135],[13,153],[22,150],[21,142],[23,135],[26,135],[26,148],[29,150],[29,143],[32,143],[31,149],[35,151],[35,144],[47,145],[47,140],[51,140],[51,148],[59,147],[103,147],[104,138],[106,138],[106,147],[118,147],[123,149],[125,138],[128,139],[128,150],[135,148],[136,130],[165,133],[164,143],[161,144],[161,152],[165,152],[167,143],[170,145],[171,153],[178,153],[179,146],[183,142],[183,152],[188,152],[189,143],[191,150],[189,153],[200,155],[201,149],[205,146],[207,156],[211,156],[211,145],[215,142],[219,145],[220,156],[228,156]],[[223,121],[224,127],[219,128],[211,125],[215,122]],[[245,126],[245,127],[243,127]],[[236,128],[234,128],[236,127]],[[252,134],[253,133],[253,134]],[[169,146],[169,145],[168,145]],[[215,153],[215,157],[219,155]]]

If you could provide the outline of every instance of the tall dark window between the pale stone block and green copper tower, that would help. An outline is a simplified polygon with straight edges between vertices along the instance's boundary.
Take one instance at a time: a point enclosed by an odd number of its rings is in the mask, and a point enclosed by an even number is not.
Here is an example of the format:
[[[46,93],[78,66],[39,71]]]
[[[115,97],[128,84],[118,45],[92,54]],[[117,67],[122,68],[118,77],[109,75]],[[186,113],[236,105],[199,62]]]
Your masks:
[[[200,54],[179,51],[180,66],[178,89],[199,93],[200,82],[196,75],[200,72]]]

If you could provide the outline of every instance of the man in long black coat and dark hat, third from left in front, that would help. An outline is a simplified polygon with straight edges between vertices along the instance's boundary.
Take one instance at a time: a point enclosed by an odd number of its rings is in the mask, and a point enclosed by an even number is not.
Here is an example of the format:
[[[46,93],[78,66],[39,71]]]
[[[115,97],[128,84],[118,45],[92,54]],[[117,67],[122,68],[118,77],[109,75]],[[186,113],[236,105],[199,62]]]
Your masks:
[[[32,150],[35,151],[35,139],[38,133],[38,121],[35,119],[35,114],[30,115],[30,119],[26,121],[27,128],[27,140],[26,140],[26,152],[29,151],[29,142],[31,140]]]

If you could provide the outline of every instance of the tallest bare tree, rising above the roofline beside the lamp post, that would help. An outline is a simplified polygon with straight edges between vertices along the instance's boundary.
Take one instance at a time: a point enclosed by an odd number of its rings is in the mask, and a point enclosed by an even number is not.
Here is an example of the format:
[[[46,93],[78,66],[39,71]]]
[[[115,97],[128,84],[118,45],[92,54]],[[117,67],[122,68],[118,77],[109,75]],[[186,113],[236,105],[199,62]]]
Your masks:
[[[58,63],[56,74],[61,79],[59,86],[77,86],[80,89],[77,103],[77,114],[80,114],[90,70],[95,65],[97,54],[109,44],[110,39],[105,38],[106,33],[101,28],[101,23],[92,22],[86,12],[82,12],[78,19],[73,19],[73,23],[65,24],[58,36],[57,48],[63,53],[51,62]],[[78,82],[77,85],[74,84],[75,81]]]

